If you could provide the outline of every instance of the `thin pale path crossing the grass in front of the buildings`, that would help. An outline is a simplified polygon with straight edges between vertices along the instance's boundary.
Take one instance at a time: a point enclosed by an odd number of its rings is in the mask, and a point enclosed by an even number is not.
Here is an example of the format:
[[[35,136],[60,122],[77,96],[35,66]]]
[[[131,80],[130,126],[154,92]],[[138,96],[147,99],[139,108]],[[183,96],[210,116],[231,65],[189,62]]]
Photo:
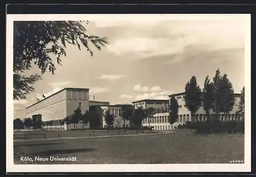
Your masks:
[[[129,136],[144,136],[144,135],[167,135],[173,134],[173,131],[148,134],[131,134],[131,135],[107,135],[95,137],[58,137],[58,138],[37,138],[37,139],[14,139],[13,142],[35,142],[35,141],[53,141],[53,140],[68,140],[68,139],[91,139],[91,138],[113,138],[113,137],[129,137]]]

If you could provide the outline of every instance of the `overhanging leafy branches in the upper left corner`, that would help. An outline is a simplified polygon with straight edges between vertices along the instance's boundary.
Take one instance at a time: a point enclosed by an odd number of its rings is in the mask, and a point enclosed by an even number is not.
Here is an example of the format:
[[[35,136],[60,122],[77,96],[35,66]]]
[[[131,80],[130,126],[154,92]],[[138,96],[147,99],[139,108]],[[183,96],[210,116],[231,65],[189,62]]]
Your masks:
[[[84,27],[89,21],[14,21],[13,26],[13,99],[25,99],[34,90],[33,84],[41,79],[25,73],[34,65],[44,74],[49,70],[54,74],[54,61],[61,65],[61,57],[66,56],[67,44],[83,45],[93,56],[90,43],[98,50],[109,44],[106,38],[89,35]],[[53,55],[53,57],[51,57]]]

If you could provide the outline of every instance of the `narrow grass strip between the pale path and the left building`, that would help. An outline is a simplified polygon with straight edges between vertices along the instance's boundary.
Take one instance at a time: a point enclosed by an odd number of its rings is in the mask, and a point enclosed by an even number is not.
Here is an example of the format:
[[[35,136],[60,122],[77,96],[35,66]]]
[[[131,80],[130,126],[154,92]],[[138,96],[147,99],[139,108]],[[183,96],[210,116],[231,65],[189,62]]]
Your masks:
[[[144,131],[144,133],[157,133],[157,131]],[[44,134],[46,134],[46,138],[56,138],[56,137],[94,137],[94,136],[106,136],[106,135],[118,135],[117,130],[110,130],[106,132],[106,130],[76,130],[76,131],[14,131],[14,139],[37,139],[44,138]],[[119,131],[119,135],[134,135],[141,134],[141,131],[136,130],[123,130]]]

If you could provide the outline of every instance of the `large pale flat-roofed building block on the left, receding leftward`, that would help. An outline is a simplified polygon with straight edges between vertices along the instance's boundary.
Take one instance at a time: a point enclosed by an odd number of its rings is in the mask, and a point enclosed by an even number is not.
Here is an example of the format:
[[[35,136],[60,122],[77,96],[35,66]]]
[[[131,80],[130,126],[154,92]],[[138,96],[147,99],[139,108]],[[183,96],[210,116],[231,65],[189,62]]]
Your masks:
[[[51,130],[65,130],[69,128],[68,126],[63,126],[61,121],[73,114],[78,107],[82,114],[89,110],[89,89],[64,88],[27,107],[26,117],[41,114],[41,120],[45,125],[44,128],[50,127]]]

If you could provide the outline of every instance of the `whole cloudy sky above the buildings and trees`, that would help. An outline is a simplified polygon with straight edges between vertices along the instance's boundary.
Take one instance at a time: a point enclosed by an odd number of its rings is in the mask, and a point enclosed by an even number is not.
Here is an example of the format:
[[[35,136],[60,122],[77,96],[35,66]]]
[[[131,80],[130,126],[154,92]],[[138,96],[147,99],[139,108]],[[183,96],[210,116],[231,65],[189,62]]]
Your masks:
[[[85,19],[86,20],[86,19]],[[219,68],[235,93],[244,84],[244,27],[241,19],[90,20],[88,34],[106,37],[100,51],[68,45],[67,57],[53,75],[47,72],[26,99],[14,100],[14,118],[25,108],[65,87],[89,88],[90,99],[111,104],[140,99],[167,99],[184,91],[195,75],[200,88]],[[32,68],[29,73],[39,72]]]

